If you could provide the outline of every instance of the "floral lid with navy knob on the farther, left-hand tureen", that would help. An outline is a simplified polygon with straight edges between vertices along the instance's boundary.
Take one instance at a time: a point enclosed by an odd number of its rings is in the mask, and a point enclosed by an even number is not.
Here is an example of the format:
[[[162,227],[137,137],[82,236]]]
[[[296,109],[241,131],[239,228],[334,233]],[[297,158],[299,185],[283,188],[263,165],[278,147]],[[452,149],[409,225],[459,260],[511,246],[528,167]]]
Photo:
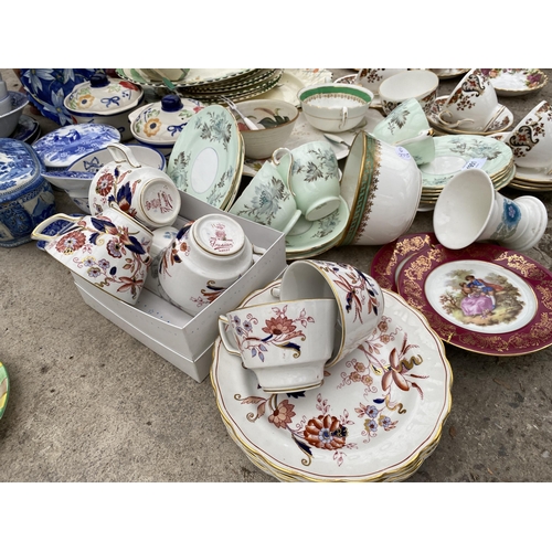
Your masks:
[[[95,73],[89,81],[77,84],[63,103],[76,115],[115,115],[132,109],[142,97],[144,91],[137,84]]]

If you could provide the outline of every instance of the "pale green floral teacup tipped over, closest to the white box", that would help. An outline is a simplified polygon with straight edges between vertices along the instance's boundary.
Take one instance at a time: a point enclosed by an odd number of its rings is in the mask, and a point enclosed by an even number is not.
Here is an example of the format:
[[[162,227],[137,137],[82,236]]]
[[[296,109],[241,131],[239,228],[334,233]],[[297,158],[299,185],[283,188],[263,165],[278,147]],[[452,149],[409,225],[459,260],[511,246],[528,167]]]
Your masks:
[[[288,166],[287,174],[282,176],[265,162],[230,212],[287,234],[301,215],[289,188],[290,170]]]

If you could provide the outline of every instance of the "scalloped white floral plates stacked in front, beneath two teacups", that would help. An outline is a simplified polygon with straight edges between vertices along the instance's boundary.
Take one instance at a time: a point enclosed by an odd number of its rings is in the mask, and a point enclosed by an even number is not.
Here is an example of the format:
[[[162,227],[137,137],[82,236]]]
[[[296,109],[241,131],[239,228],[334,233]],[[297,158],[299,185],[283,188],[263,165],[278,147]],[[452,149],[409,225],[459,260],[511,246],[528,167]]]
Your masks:
[[[273,300],[275,282],[244,301]],[[400,296],[362,344],[311,391],[264,393],[254,372],[215,341],[211,382],[230,436],[283,481],[391,481],[435,449],[450,411],[453,373],[443,342]]]

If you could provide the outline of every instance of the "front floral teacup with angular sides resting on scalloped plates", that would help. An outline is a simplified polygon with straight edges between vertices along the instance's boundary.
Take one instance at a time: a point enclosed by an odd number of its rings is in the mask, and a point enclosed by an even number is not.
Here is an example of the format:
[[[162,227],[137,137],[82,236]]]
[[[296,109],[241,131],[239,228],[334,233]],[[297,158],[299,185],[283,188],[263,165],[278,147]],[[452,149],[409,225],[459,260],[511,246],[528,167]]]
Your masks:
[[[331,298],[277,301],[221,316],[219,331],[226,350],[255,372],[263,391],[290,393],[322,383],[336,319],[337,305]],[[227,327],[236,344],[226,333]]]

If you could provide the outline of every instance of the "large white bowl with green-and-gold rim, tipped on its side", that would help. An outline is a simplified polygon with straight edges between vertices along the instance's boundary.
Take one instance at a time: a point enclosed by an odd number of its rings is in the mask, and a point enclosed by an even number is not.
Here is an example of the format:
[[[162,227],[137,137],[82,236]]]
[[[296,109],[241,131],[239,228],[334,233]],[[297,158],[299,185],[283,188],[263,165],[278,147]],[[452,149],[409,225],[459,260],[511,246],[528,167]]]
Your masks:
[[[384,245],[412,225],[422,172],[406,149],[361,131],[343,168],[341,195],[350,214],[339,245]]]

